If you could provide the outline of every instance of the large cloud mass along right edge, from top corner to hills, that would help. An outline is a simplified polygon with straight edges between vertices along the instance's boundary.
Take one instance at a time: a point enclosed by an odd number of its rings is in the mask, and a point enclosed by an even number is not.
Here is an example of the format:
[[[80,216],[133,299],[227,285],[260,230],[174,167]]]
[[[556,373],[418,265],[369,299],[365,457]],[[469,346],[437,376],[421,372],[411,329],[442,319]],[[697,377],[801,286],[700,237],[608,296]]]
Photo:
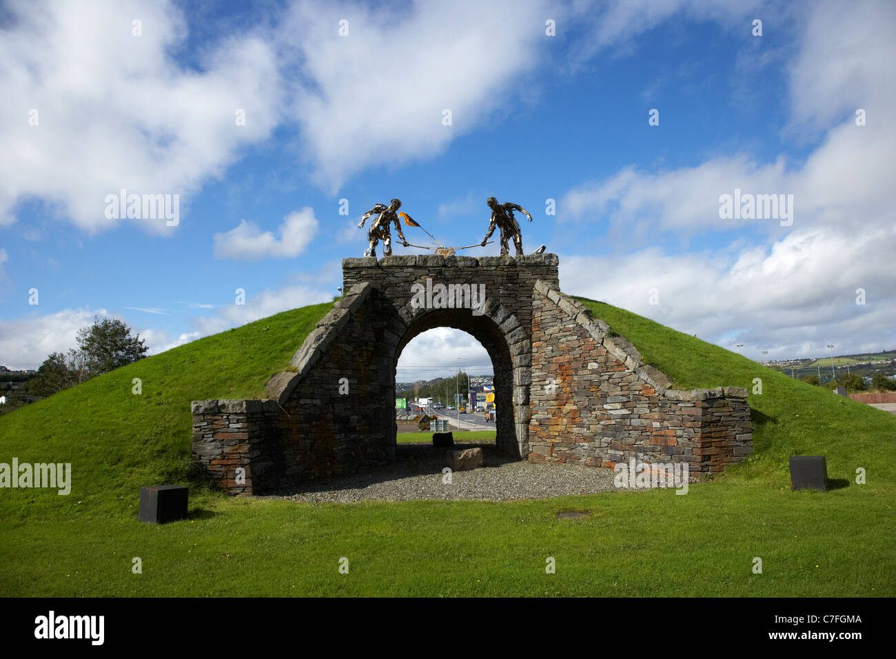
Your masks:
[[[658,173],[630,167],[573,188],[558,204],[566,221],[606,219],[610,236],[625,244],[639,232],[655,238],[658,229],[688,234],[744,226],[718,217],[719,195],[740,187],[793,194],[793,226],[752,221],[735,242],[702,253],[649,248],[567,256],[564,290],[728,348],[745,343],[757,359],[763,350],[771,358],[819,356],[825,343],[840,353],[892,348],[896,85],[886,63],[896,59],[888,36],[896,13],[879,3],[810,10],[790,70],[792,114],[795,126],[829,132],[804,163],[779,157],[761,164],[739,154]],[[875,108],[874,123],[856,126],[856,107]],[[856,304],[859,288],[866,290],[865,306]],[[649,304],[651,289],[659,305]]]

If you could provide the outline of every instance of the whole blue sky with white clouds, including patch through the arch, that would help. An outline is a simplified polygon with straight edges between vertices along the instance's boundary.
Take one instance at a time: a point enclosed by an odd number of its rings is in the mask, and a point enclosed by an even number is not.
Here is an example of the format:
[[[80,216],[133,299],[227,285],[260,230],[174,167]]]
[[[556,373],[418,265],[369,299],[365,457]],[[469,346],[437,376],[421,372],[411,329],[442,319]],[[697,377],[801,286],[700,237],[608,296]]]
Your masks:
[[[0,363],[95,314],[158,352],[331,299],[393,196],[452,245],[521,204],[565,292],[754,358],[896,347],[896,4],[448,5],[7,4]],[[121,188],[179,195],[177,226],[106,217]],[[720,219],[735,188],[794,195],[793,223]],[[434,351],[487,363],[438,330],[401,365]]]

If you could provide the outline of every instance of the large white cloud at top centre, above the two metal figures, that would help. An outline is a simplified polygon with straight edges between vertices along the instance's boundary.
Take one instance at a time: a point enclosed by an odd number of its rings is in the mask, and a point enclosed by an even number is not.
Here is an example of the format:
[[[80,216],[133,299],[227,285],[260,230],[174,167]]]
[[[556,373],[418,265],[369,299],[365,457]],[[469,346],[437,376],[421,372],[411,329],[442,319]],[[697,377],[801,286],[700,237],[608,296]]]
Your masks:
[[[280,48],[302,63],[290,114],[314,179],[336,190],[360,169],[432,158],[506,111],[544,52],[544,22],[541,4],[510,0],[294,4]]]

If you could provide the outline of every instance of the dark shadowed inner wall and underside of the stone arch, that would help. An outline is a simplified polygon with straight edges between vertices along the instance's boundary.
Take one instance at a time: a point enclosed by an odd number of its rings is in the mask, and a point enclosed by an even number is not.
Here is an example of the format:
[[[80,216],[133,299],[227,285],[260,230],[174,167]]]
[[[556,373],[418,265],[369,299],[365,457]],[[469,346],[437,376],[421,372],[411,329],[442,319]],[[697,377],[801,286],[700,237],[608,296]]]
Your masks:
[[[392,419],[395,418],[395,382],[398,361],[405,347],[419,334],[436,327],[452,327],[470,334],[482,345],[492,365],[495,387],[495,446],[501,452],[521,457],[516,438],[513,408],[513,361],[500,327],[487,316],[473,316],[470,309],[434,309],[416,318],[401,336],[392,356]],[[392,437],[398,433],[393,421]],[[457,436],[460,438],[460,436]]]

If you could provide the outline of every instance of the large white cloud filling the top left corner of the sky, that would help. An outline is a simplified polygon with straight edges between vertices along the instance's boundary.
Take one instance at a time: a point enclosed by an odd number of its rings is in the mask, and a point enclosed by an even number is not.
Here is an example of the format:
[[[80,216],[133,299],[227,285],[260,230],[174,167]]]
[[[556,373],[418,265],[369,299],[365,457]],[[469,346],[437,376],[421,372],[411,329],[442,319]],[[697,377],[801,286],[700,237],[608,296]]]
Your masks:
[[[171,56],[187,28],[168,2],[5,6],[0,143],[15,157],[0,159],[0,224],[39,197],[84,230],[107,229],[121,221],[105,217],[105,195],[188,195],[276,124],[279,74],[260,36],[224,39],[191,70]]]

